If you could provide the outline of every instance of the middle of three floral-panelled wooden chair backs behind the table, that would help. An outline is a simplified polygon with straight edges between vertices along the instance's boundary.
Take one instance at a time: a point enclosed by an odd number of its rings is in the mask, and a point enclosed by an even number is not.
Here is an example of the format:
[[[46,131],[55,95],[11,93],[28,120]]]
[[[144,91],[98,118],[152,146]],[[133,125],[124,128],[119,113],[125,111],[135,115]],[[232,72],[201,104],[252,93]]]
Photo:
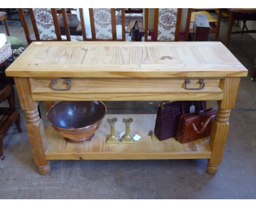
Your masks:
[[[115,9],[95,8],[89,9],[91,36],[86,36],[83,9],[79,9],[83,40],[103,40],[103,41],[125,41],[125,10],[121,9],[122,38],[117,38],[117,21]]]

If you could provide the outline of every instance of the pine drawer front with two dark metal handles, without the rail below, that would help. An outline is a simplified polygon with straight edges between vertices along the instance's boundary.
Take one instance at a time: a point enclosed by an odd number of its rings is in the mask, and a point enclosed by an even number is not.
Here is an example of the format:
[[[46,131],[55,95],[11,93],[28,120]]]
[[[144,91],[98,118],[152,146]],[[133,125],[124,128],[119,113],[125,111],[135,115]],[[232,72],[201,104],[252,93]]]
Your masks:
[[[30,78],[32,93],[222,93],[220,79]]]

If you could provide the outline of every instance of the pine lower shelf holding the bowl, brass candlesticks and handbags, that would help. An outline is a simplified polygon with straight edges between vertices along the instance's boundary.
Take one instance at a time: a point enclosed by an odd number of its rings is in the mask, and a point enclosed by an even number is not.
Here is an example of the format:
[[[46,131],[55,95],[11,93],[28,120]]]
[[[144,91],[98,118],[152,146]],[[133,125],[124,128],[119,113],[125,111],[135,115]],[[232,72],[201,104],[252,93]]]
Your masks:
[[[118,119],[116,133],[125,131],[124,117],[132,117],[131,133],[138,134],[141,139],[133,144],[106,144],[106,136],[110,133],[107,118]],[[150,136],[154,131],[155,114],[118,114],[106,115],[102,126],[88,143],[72,144],[66,142],[50,125],[45,126],[48,148],[47,160],[152,160],[152,159],[195,159],[210,158],[210,139],[203,138],[195,142],[181,144],[174,138],[159,141]]]

